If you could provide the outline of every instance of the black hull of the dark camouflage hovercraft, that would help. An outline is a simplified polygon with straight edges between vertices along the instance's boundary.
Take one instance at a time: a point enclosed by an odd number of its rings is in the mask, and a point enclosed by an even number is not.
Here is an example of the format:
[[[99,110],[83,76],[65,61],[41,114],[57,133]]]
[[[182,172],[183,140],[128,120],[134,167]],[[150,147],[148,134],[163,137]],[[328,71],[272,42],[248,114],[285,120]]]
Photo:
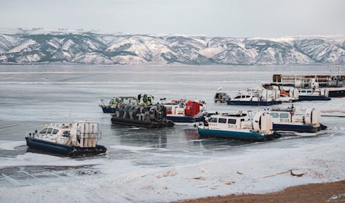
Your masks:
[[[128,118],[118,118],[112,116],[111,122],[119,125],[129,125],[135,127],[146,127],[146,128],[159,128],[159,127],[172,127],[174,123],[171,120],[165,120],[162,122],[150,122],[150,121],[141,121]]]

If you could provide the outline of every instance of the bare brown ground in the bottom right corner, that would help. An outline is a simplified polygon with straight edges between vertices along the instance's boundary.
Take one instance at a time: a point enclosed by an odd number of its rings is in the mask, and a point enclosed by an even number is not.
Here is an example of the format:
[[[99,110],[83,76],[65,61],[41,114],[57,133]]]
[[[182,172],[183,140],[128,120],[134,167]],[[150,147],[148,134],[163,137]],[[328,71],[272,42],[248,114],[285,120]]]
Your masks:
[[[179,201],[179,203],[196,202],[345,202],[345,180],[291,186],[277,193],[226,195]]]

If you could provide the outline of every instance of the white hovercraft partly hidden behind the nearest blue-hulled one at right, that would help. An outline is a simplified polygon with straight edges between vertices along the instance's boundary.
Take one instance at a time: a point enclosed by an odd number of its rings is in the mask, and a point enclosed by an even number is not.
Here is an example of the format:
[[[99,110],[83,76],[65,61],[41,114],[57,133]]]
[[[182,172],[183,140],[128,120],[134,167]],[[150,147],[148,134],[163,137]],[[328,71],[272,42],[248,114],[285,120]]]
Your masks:
[[[320,123],[321,112],[308,108],[304,114],[297,114],[293,105],[286,109],[274,108],[267,112],[272,116],[273,130],[315,133],[327,127]]]

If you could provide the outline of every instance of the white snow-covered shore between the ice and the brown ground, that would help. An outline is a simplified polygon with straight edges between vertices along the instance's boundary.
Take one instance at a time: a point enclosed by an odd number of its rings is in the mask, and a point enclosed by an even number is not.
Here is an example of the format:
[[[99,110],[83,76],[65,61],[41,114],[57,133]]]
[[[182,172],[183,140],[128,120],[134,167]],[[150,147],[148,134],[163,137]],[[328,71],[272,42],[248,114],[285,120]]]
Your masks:
[[[345,180],[345,137],[339,130],[308,144],[295,140],[277,148],[274,142],[256,143],[239,151],[235,149],[233,155],[175,167],[140,167],[128,164],[128,160],[97,160],[101,175],[15,189],[1,186],[0,197],[6,202],[166,202],[270,193],[299,184]],[[165,156],[174,158],[170,154]],[[23,161],[31,162],[28,157]],[[291,175],[290,170],[304,175]]]

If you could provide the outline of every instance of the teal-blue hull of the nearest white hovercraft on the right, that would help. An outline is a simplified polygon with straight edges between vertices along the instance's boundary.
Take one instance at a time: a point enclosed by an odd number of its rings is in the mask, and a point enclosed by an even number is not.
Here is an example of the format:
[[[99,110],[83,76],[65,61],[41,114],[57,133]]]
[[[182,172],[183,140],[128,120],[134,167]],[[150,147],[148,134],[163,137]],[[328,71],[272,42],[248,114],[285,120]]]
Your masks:
[[[242,132],[242,131],[223,131],[216,129],[203,129],[198,128],[200,137],[212,137],[212,138],[226,138],[232,140],[250,140],[250,141],[265,141],[279,138],[279,133],[274,133],[270,136],[264,136],[255,132]]]

